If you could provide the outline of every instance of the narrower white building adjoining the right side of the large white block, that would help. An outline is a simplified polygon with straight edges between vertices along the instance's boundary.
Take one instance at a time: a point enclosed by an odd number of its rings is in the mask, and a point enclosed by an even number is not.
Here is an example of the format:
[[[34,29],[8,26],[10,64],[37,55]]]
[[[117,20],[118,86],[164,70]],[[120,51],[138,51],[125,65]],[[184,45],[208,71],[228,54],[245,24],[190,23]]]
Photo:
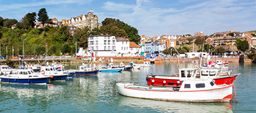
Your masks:
[[[117,57],[129,57],[130,56],[130,41],[126,37],[117,37]]]

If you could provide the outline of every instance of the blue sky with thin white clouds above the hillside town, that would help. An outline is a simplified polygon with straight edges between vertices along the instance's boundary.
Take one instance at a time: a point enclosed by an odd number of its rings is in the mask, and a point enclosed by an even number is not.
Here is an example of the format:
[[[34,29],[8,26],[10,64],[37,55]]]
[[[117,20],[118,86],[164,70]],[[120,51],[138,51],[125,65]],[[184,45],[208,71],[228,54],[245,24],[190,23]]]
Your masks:
[[[50,18],[70,19],[93,10],[102,22],[117,18],[139,35],[194,35],[204,31],[251,31],[256,27],[255,0],[0,0],[0,16],[20,20],[45,7]]]

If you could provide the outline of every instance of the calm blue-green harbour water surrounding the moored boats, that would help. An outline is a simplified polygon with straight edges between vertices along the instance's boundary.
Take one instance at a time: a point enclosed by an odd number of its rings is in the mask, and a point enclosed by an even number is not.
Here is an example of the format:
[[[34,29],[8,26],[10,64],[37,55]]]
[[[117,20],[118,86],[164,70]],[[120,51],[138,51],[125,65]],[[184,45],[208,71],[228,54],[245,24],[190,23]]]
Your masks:
[[[121,80],[146,85],[147,74],[177,73],[177,63],[162,63],[122,73],[75,76],[66,82],[52,81],[43,86],[1,83],[0,112],[256,112],[256,64],[229,65],[233,74],[241,73],[234,82],[238,103],[155,101],[124,97],[117,93],[115,83]],[[78,66],[70,64],[66,69]],[[104,63],[88,66],[103,67]],[[180,67],[197,66],[180,64]]]

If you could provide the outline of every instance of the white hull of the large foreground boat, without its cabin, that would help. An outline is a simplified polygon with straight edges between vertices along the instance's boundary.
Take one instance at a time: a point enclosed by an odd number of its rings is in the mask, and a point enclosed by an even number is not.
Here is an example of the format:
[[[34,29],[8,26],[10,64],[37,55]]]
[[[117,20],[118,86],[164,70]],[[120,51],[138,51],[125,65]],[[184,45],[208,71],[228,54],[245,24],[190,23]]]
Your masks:
[[[213,88],[210,90],[201,91],[155,91],[148,90],[146,86],[129,88],[124,85],[125,84],[117,83],[117,91],[120,95],[128,97],[138,97],[143,99],[193,102],[229,102],[232,98],[233,88],[233,85],[228,85],[221,88]]]

